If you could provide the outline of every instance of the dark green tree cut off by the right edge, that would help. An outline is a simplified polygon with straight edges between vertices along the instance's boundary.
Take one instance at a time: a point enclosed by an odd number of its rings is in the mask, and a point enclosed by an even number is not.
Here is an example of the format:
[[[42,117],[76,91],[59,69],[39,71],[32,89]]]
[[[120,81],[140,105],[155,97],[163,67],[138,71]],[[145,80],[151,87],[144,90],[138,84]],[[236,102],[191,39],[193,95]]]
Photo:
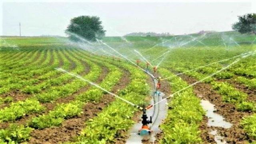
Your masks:
[[[232,25],[233,30],[244,33],[256,34],[256,14],[245,14],[238,16],[239,22]]]

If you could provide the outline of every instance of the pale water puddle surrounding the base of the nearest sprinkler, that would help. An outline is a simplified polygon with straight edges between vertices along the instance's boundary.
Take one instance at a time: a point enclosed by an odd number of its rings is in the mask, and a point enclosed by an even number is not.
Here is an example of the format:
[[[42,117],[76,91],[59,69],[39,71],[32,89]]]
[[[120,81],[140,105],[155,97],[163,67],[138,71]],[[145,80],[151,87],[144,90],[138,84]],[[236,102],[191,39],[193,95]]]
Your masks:
[[[160,96],[158,96],[158,99],[156,99],[156,101],[162,100],[163,97],[164,97],[164,93],[161,92]],[[138,130],[140,130],[142,124],[141,124],[141,121],[137,122],[128,131],[130,133],[130,136],[126,140],[126,144],[142,144],[142,140],[146,140],[154,143],[154,141],[156,140],[155,138],[156,134],[160,132],[160,129],[158,126],[166,118],[166,114],[167,114],[166,102],[167,101],[165,100],[155,106],[155,114],[152,117],[153,123],[149,125],[153,132],[150,135],[146,135],[146,136],[138,135]],[[154,100],[151,100],[151,104],[154,104]],[[153,113],[154,113],[154,108],[150,108],[149,110],[147,110],[148,117],[152,116]]]

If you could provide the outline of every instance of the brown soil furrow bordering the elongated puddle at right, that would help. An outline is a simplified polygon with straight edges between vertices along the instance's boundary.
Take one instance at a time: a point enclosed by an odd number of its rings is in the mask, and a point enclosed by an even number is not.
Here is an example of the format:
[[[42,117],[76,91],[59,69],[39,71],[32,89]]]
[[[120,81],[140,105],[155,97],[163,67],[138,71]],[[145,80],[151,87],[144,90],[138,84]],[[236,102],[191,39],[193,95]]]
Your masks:
[[[197,80],[194,78],[191,78],[186,75],[180,76],[183,80],[188,82],[188,84],[192,84],[196,82]],[[223,135],[225,137],[226,142],[231,144],[244,144],[246,141],[250,141],[250,138],[246,136],[245,132],[240,127],[240,121],[243,117],[249,116],[251,113],[247,112],[239,112],[236,110],[235,106],[233,104],[228,104],[222,102],[222,96],[220,94],[217,94],[210,84],[206,83],[198,83],[194,85],[193,87],[194,93],[202,98],[209,100],[212,104],[215,105],[216,112],[226,119],[226,121],[232,123],[232,127],[228,129],[224,128],[216,128],[218,130],[218,133]],[[201,123],[201,126],[204,126],[204,121]],[[207,134],[208,131],[202,131],[202,139],[206,140],[204,142],[211,143],[212,138]]]

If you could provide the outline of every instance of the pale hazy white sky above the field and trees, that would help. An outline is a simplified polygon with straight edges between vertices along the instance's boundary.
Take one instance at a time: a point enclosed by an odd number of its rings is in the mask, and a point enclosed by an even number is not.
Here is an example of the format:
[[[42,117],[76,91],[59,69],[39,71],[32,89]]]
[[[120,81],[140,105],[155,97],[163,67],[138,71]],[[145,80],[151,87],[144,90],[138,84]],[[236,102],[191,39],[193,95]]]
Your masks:
[[[76,16],[99,16],[106,36],[131,32],[190,34],[229,31],[238,15],[256,12],[256,0],[2,0],[0,35],[59,35]]]

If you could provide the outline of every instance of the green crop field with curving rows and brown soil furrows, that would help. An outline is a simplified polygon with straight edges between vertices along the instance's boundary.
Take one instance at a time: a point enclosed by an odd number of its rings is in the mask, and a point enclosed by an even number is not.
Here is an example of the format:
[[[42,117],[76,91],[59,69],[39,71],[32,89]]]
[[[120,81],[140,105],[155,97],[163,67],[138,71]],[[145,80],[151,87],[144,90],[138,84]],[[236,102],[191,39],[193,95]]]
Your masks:
[[[105,37],[90,44],[64,37],[0,41],[0,144],[126,143],[140,110],[81,78],[148,106],[154,66],[168,98],[159,102],[166,117],[155,143],[256,142],[255,35]],[[142,70],[146,61],[148,73]]]

